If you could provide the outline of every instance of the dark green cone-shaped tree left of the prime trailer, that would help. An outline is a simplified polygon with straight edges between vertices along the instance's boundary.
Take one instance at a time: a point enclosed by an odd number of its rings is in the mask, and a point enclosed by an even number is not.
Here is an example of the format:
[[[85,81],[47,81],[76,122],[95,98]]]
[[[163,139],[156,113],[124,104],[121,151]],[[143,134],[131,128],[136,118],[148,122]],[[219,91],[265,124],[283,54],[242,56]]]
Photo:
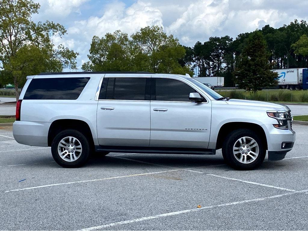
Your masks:
[[[240,88],[256,92],[262,87],[277,84],[278,74],[270,70],[267,44],[260,31],[255,31],[245,40],[235,69],[235,82]]]

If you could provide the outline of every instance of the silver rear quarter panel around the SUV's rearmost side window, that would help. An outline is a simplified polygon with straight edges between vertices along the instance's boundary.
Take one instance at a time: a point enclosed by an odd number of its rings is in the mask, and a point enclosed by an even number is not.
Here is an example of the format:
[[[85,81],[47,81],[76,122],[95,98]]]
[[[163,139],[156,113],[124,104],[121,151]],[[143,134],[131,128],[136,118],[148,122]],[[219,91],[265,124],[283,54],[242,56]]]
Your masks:
[[[78,77],[83,76],[78,75]],[[53,121],[59,119],[82,120],[89,125],[94,143],[97,145],[96,111],[98,101],[95,101],[95,93],[99,81],[99,76],[91,77],[76,100],[22,100],[21,121],[39,122],[47,126],[48,129],[45,129],[45,131],[47,130],[47,142],[49,126]],[[27,80],[24,88],[29,83],[30,79]],[[25,90],[22,93],[23,97]]]

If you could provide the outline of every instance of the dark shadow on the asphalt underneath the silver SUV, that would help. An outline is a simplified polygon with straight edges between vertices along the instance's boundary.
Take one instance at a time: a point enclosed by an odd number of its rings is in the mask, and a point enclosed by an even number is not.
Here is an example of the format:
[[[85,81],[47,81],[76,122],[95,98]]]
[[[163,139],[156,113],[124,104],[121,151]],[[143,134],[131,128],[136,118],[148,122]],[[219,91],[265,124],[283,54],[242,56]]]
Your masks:
[[[31,168],[62,168],[52,158],[52,156],[37,156],[36,160],[27,159],[23,162],[24,167]],[[9,165],[10,166],[10,165]],[[92,155],[82,168],[144,168],[145,166],[172,168],[198,168],[213,167],[221,171],[237,171],[225,164],[221,154],[217,155],[192,155],[192,154],[128,154],[115,155],[110,153],[107,156]],[[273,171],[276,169],[291,169],[292,161],[265,161],[255,169],[258,171]],[[255,171],[252,170],[252,171]],[[251,171],[251,170],[250,170]]]

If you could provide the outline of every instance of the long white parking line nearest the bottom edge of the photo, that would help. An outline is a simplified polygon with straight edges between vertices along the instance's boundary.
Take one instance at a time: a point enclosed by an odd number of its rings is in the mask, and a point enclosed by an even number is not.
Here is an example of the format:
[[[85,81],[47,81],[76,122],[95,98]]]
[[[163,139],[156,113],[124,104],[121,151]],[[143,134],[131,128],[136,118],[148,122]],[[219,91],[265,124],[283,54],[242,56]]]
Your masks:
[[[146,220],[152,220],[156,218],[161,218],[161,217],[169,217],[169,216],[175,216],[183,213],[190,213],[190,212],[195,212],[195,211],[200,211],[204,209],[212,209],[212,208],[218,208],[218,207],[225,207],[225,206],[230,206],[230,205],[239,205],[239,204],[244,204],[244,203],[249,203],[249,202],[258,202],[258,201],[265,201],[265,200],[270,200],[270,199],[275,199],[278,197],[284,197],[284,196],[289,196],[295,193],[306,193],[308,189],[306,190],[301,190],[301,191],[295,191],[295,192],[290,192],[290,193],[283,193],[283,194],[278,194],[270,197],[260,197],[256,199],[250,199],[250,200],[245,200],[245,201],[235,201],[235,202],[230,202],[230,203],[225,203],[225,204],[218,204],[218,205],[210,205],[210,206],[205,206],[200,209],[186,209],[186,210],[181,210],[181,211],[176,211],[176,212],[171,212],[171,213],[163,213],[163,214],[158,214],[155,216],[149,216],[149,217],[141,217],[137,219],[132,219],[132,220],[126,220],[126,221],[119,221],[115,223],[110,223],[106,225],[98,225],[98,226],[93,226],[81,230],[98,230],[98,229],[105,229],[109,227],[113,227],[116,225],[125,225],[125,224],[130,224],[134,222],[139,222],[139,221],[146,221]]]

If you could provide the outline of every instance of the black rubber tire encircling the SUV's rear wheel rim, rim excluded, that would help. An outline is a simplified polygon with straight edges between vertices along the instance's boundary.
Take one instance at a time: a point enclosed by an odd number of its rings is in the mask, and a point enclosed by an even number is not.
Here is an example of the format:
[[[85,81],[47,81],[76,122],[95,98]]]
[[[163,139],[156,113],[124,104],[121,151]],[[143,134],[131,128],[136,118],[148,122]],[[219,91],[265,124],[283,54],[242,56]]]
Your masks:
[[[58,153],[59,142],[63,138],[68,137],[68,136],[75,137],[76,139],[78,139],[78,141],[80,142],[82,146],[82,151],[79,154],[80,156],[78,155],[78,159],[72,162],[67,162],[63,160]],[[87,160],[89,158],[89,153],[90,153],[89,141],[81,132],[73,130],[73,129],[67,129],[67,130],[60,132],[58,135],[55,136],[55,138],[53,139],[51,143],[52,157],[57,162],[57,164],[59,164],[60,166],[64,168],[78,168],[78,167],[83,166],[84,164],[87,163]]]

